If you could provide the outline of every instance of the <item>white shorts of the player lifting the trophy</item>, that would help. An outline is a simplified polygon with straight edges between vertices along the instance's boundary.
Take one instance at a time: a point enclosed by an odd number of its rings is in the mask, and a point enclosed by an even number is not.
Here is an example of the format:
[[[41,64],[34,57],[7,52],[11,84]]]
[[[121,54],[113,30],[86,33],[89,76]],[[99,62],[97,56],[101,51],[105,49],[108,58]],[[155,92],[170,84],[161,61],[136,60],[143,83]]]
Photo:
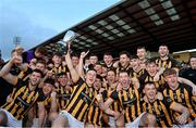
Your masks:
[[[64,118],[68,118],[70,128],[84,128],[84,123],[77,120],[75,117],[73,117],[66,111],[61,111],[59,115],[64,117]]]

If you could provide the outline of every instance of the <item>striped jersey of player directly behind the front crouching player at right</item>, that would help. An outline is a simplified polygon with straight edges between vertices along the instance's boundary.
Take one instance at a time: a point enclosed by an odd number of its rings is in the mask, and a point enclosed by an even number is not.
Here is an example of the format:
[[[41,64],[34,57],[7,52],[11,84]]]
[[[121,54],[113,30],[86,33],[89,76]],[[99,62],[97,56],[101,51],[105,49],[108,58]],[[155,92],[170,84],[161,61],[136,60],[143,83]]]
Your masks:
[[[155,82],[156,85],[156,88],[158,91],[162,92],[163,89],[166,88],[166,81],[164,81],[164,77],[163,75],[160,75],[159,76],[159,80],[158,81],[155,81],[154,80],[154,76],[150,76],[147,72],[145,72],[145,74],[143,74],[140,77],[139,77],[139,82],[140,82],[140,88],[143,89],[145,82],[148,82],[148,81],[152,81]]]

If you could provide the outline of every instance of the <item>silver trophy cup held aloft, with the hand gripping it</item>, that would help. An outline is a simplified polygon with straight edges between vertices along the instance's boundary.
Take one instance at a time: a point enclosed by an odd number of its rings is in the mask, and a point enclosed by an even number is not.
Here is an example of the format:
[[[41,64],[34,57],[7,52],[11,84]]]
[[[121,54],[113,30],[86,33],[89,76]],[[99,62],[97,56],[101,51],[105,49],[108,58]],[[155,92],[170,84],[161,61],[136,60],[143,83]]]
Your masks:
[[[72,30],[68,30],[65,33],[63,39],[59,41],[59,43],[61,43],[65,47],[65,54],[70,50],[70,44],[75,38],[76,38],[76,34]]]

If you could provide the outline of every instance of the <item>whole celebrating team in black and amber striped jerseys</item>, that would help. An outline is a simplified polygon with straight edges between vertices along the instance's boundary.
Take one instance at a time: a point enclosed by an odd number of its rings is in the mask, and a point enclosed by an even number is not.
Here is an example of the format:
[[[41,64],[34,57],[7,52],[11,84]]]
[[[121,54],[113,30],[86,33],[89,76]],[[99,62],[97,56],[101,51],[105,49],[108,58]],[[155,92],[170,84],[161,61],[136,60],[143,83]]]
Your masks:
[[[88,52],[77,56],[70,51],[64,61],[54,54],[47,65],[36,57],[23,64],[13,51],[0,71],[0,77],[13,85],[0,110],[2,126],[22,127],[23,118],[27,118],[24,126],[35,126],[37,116],[38,127],[196,125],[195,84],[179,77],[181,65],[169,56],[166,44],[159,47],[158,59],[147,59],[139,47],[137,55],[123,51],[114,63],[105,53],[103,64],[95,54],[85,60]],[[196,57],[191,60],[195,69]],[[17,75],[10,72],[14,66],[21,71]]]

